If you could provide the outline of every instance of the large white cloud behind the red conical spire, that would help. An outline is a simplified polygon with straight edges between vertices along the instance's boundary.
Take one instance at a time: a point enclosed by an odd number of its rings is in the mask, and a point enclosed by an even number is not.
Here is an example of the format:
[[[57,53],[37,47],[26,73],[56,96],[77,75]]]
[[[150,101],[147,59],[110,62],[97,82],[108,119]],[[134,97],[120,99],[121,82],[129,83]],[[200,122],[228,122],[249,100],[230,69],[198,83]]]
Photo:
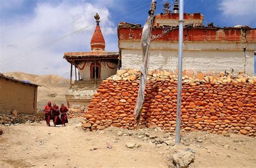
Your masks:
[[[101,19],[105,18],[100,22],[100,27],[106,40],[106,49],[109,45],[117,51],[117,44],[116,48],[107,44],[107,39],[116,33],[116,27],[108,18],[110,12],[104,6],[91,3],[72,4],[66,1],[58,4],[38,3],[33,15],[16,18],[8,24],[1,23],[0,72],[23,71],[68,77],[70,66],[62,58],[63,54],[69,51],[90,51],[90,39],[96,26],[93,16],[96,12]],[[88,25],[90,26],[86,29],[29,55],[17,54],[43,46]],[[5,61],[6,59],[10,60]]]

